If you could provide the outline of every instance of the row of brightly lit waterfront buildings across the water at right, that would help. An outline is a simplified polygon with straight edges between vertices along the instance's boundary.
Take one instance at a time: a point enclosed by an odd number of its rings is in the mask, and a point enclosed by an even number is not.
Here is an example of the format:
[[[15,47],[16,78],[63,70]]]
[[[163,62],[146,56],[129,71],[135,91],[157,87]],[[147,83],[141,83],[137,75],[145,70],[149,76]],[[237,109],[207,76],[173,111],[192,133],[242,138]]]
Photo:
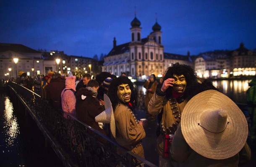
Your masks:
[[[194,69],[201,78],[255,76],[256,53],[240,43],[240,48],[234,51],[201,53],[194,64]]]

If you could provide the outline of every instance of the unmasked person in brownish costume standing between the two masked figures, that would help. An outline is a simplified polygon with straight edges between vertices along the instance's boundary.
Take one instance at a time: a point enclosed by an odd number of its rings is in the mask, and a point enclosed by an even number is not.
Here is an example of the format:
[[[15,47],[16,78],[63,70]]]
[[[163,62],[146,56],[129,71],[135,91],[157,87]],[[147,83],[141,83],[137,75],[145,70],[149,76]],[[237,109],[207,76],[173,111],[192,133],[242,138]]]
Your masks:
[[[157,85],[158,85],[157,78],[154,74],[151,74],[149,80],[146,81],[143,85],[144,88],[146,89],[146,96],[144,98],[144,104],[146,108],[146,117],[150,118],[151,120],[154,120],[155,116],[149,114],[149,112],[147,111],[147,106],[149,104],[150,99],[152,98],[155,91],[157,90]]]

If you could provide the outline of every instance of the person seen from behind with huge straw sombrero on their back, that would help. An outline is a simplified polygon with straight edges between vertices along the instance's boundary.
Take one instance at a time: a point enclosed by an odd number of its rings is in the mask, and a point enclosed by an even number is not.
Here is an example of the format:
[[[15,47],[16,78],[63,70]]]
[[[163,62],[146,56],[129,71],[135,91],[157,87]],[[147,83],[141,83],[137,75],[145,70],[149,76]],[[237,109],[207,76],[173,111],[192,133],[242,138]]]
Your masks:
[[[179,167],[237,167],[251,158],[248,124],[227,96],[203,91],[185,105],[170,146]]]

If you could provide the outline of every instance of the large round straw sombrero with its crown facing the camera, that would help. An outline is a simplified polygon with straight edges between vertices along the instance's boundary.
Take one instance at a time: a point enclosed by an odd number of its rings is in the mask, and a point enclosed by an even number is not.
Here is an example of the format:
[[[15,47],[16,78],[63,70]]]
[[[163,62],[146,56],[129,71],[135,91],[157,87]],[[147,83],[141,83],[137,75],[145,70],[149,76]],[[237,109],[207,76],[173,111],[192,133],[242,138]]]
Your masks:
[[[246,144],[248,124],[243,112],[224,94],[208,90],[185,105],[181,131],[188,145],[211,159],[227,159]]]

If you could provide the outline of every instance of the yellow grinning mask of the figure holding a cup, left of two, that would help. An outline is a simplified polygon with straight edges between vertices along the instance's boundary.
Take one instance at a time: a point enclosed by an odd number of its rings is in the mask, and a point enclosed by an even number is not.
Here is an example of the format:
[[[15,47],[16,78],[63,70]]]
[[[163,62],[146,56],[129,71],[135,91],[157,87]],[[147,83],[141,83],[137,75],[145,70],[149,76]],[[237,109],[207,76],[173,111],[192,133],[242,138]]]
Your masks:
[[[131,89],[128,84],[121,84],[118,86],[118,98],[123,103],[129,103],[131,99]]]

